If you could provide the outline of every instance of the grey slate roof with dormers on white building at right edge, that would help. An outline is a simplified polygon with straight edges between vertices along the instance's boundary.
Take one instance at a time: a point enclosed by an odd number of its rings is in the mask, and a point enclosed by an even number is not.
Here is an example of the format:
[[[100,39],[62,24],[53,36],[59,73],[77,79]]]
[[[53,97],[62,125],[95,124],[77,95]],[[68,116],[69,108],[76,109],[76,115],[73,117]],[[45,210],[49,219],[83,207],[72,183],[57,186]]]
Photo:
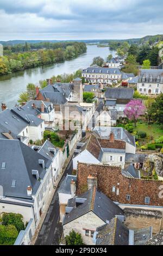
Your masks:
[[[145,76],[145,81],[143,81],[143,76]],[[150,77],[152,76],[152,81]],[[160,81],[157,81],[157,78],[160,78]],[[161,69],[141,69],[139,75],[139,83],[163,83],[163,70]]]

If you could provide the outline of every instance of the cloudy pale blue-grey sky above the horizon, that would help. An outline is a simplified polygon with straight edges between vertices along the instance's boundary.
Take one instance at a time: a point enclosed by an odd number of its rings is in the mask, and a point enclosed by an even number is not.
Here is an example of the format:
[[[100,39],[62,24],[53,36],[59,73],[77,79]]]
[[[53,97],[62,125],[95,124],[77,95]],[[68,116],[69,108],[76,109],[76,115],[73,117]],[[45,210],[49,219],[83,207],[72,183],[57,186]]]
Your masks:
[[[0,41],[163,34],[162,0],[0,0]]]

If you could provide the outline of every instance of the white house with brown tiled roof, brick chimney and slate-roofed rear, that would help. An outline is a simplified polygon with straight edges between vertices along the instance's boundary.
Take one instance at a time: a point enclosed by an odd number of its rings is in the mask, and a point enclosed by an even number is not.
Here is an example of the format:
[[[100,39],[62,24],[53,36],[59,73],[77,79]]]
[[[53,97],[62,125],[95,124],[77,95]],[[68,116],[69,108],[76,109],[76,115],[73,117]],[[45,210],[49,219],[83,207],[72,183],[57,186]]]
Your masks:
[[[73,169],[77,169],[78,162],[109,164],[124,169],[126,154],[135,154],[135,151],[135,138],[128,131],[119,127],[95,127],[85,144],[75,150]]]

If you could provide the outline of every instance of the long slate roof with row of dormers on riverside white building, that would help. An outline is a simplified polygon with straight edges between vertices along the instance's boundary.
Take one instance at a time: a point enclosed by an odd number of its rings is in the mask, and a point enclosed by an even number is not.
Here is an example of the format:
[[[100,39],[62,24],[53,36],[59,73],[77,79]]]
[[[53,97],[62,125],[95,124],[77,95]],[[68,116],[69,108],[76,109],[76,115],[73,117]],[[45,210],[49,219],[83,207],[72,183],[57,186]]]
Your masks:
[[[86,72],[87,70],[87,72]],[[101,72],[100,72],[101,70]],[[121,75],[122,72],[118,68],[95,68],[95,67],[89,67],[87,69],[83,69],[82,73],[95,73],[95,74],[116,74]]]

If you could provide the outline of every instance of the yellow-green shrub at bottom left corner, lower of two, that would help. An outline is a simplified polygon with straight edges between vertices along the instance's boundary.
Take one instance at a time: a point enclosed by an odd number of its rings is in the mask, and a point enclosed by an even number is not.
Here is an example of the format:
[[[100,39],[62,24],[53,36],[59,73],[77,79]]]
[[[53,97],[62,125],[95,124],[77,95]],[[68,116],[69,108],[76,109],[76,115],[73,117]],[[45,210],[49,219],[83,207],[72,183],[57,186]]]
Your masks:
[[[18,231],[14,225],[0,225],[0,244],[14,245]]]

